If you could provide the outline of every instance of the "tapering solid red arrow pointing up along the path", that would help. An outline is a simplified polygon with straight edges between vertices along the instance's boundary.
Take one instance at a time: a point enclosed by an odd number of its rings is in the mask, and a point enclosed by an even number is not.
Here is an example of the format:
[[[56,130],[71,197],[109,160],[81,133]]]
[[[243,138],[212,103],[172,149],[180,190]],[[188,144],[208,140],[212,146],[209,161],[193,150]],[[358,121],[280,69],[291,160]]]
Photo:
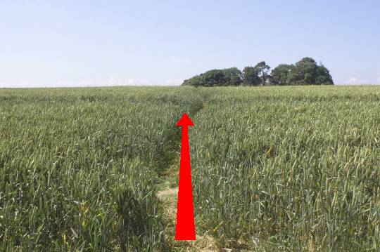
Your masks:
[[[182,126],[181,161],[179,167],[179,188],[177,203],[176,240],[195,240],[193,187],[191,186],[191,164],[189,150],[189,126],[194,126],[185,113],[177,122]]]

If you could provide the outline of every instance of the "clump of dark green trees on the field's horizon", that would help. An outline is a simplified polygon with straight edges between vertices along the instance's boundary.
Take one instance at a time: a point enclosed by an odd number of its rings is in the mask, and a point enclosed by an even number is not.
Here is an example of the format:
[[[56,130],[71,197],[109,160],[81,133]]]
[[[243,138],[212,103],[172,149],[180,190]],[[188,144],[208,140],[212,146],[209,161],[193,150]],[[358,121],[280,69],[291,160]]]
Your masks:
[[[186,86],[285,86],[285,85],[333,85],[329,70],[312,58],[303,58],[294,65],[281,64],[270,72],[270,66],[262,61],[255,67],[213,69],[186,79]]]

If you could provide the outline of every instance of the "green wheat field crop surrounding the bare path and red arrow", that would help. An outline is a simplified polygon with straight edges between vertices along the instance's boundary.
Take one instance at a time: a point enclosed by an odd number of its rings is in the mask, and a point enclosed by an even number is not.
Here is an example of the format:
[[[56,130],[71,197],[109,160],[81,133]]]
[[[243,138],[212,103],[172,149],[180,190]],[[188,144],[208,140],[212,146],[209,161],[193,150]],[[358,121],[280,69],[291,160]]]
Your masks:
[[[379,104],[370,86],[0,90],[0,249],[172,250],[156,194],[188,112],[218,246],[376,251]]]

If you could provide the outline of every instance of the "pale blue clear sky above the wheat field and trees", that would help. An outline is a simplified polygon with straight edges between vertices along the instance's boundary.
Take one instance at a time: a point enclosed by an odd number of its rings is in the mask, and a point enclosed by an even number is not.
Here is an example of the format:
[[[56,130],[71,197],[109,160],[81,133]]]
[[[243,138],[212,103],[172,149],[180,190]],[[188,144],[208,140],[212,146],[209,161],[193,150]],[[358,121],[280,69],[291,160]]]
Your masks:
[[[380,1],[0,0],[0,87],[178,85],[309,56],[380,84]]]

